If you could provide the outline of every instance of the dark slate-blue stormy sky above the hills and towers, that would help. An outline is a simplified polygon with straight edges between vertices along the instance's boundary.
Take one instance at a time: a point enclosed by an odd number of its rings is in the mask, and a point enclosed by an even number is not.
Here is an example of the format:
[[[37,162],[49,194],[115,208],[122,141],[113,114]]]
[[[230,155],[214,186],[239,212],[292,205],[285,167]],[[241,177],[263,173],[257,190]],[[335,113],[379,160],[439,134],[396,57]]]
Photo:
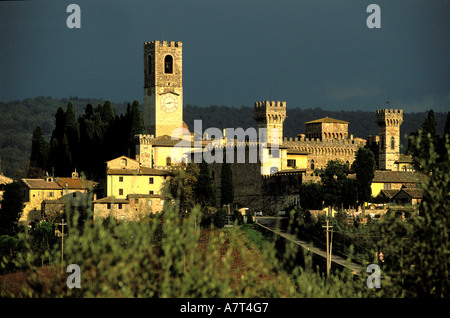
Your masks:
[[[81,29],[66,8],[81,7]],[[369,4],[381,29],[369,29]],[[0,2],[0,101],[142,101],[143,43],[183,42],[184,104],[450,109],[448,0]]]

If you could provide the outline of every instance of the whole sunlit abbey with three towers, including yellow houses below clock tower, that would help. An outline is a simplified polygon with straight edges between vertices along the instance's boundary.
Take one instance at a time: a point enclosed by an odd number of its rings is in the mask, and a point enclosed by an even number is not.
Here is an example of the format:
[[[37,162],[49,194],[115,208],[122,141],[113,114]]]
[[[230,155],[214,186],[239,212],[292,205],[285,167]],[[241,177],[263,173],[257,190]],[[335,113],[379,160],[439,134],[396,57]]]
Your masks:
[[[203,127],[200,133],[195,127],[189,131],[183,121],[182,53],[182,42],[144,43],[143,113],[148,134],[136,136],[136,158],[108,161],[106,197],[94,202],[98,215],[112,213],[132,219],[140,212],[139,200],[143,199],[152,200],[147,204],[152,213],[159,211],[164,181],[181,162],[198,163],[198,156],[214,159],[207,162],[218,194],[223,160],[229,156],[233,158],[235,203],[252,211],[277,211],[298,198],[302,182],[320,180],[318,171],[329,160],[352,164],[358,148],[367,144],[367,140],[349,135],[348,122],[328,117],[306,122],[305,134],[283,136],[285,101],[256,101],[256,127],[247,129],[244,136],[214,127]],[[403,113],[380,109],[375,115],[380,136],[371,142],[379,147],[379,167],[392,169],[399,158]],[[274,197],[280,199],[279,204],[270,199]]]

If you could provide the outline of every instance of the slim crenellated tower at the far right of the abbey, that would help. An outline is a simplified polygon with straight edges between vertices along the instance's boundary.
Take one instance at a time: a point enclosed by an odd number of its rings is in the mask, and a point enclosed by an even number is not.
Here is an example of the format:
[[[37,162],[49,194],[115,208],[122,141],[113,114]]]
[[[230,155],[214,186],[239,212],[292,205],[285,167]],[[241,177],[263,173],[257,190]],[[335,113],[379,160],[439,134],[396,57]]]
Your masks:
[[[379,169],[393,170],[394,162],[400,157],[400,125],[403,122],[403,110],[378,109],[375,122],[380,129]]]

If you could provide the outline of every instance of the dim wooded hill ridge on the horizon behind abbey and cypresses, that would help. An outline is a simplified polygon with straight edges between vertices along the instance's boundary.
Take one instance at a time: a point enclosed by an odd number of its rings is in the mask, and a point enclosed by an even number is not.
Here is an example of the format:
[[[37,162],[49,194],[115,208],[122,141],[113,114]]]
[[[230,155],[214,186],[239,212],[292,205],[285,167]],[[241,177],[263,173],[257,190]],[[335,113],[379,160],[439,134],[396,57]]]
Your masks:
[[[68,103],[73,105],[76,118],[84,115],[88,104],[93,108],[104,105],[105,100],[70,97],[69,99],[55,99],[51,97],[27,98],[22,101],[0,102],[0,171],[6,176],[24,177],[31,154],[31,140],[37,126],[42,128],[45,139],[50,142],[55,129],[55,115],[59,107],[67,109]],[[125,115],[130,103],[114,103],[111,106],[115,114]],[[229,107],[211,105],[207,107],[184,106],[184,121],[190,130],[194,129],[194,119],[202,120],[203,131],[209,127],[247,129],[256,127],[253,119],[253,107]],[[370,111],[329,111],[315,109],[287,109],[287,119],[284,123],[284,136],[295,137],[304,133],[304,123],[310,120],[332,117],[349,122],[349,134],[366,138],[368,135],[378,134],[375,124],[375,108]],[[427,116],[427,111],[420,113],[405,113],[401,126],[401,144],[404,151],[407,146],[407,136],[416,131]],[[444,129],[446,113],[435,113],[437,132]],[[124,153],[127,155],[127,153]],[[110,158],[112,159],[112,158]]]

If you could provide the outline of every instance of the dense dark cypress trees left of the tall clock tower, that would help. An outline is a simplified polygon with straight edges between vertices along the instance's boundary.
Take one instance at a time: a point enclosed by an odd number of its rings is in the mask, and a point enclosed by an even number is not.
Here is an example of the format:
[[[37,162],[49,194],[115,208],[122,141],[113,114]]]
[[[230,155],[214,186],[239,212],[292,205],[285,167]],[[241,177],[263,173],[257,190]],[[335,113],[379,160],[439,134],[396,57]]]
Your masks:
[[[49,141],[40,126],[33,131],[27,176],[70,176],[77,170],[98,180],[104,177],[106,161],[135,156],[134,136],[143,133],[146,129],[138,101],[128,103],[120,116],[109,101],[96,107],[88,104],[78,118],[69,101],[66,110],[59,107],[56,111]]]

